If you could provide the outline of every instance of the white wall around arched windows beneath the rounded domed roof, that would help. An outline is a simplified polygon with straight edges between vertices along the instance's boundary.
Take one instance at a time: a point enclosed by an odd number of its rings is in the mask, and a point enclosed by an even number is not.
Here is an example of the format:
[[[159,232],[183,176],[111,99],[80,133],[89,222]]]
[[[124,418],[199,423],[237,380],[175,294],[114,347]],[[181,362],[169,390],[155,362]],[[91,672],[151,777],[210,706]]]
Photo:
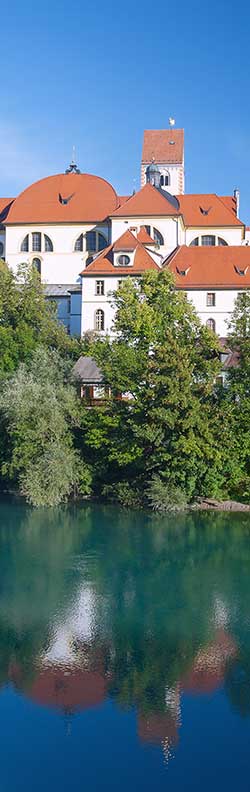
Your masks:
[[[108,244],[108,226],[96,224],[72,224],[72,225],[25,225],[6,227],[6,261],[16,272],[19,264],[24,262],[31,263],[34,258],[41,261],[41,278],[46,283],[77,283],[80,280],[80,272],[85,267],[87,253],[76,252],[75,242],[81,233],[93,229],[98,230],[106,236]],[[42,250],[41,253],[29,251],[21,252],[21,243],[26,234],[40,231],[47,234],[53,243],[53,253]]]

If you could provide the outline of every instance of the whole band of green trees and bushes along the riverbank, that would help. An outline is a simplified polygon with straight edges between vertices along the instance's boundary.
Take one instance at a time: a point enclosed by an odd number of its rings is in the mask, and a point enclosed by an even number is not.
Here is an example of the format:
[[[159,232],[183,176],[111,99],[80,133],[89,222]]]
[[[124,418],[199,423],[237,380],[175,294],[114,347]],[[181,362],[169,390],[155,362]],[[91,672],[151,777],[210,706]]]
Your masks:
[[[238,298],[223,387],[219,340],[171,274],[128,278],[115,336],[70,338],[23,265],[0,265],[0,483],[33,505],[71,496],[178,510],[197,497],[250,500],[250,295]],[[110,395],[89,408],[72,382],[95,358]],[[127,398],[119,395],[127,394]]]

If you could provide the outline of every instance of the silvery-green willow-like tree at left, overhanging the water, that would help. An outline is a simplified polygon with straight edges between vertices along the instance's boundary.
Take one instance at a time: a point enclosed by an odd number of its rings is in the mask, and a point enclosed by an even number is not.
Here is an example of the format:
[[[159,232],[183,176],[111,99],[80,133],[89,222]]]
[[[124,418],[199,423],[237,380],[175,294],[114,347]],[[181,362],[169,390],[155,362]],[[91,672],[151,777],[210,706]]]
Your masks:
[[[73,447],[78,403],[56,352],[38,347],[5,380],[0,396],[2,475],[35,506],[90,492],[90,470]]]

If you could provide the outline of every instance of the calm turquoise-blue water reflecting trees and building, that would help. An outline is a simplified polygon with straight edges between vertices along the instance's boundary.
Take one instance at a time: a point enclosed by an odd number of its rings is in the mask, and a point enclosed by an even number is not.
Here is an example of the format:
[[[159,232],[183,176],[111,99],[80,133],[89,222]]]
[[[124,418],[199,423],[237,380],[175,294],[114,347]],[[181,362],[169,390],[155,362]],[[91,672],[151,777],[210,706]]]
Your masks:
[[[0,507],[0,789],[249,788],[250,518]]]

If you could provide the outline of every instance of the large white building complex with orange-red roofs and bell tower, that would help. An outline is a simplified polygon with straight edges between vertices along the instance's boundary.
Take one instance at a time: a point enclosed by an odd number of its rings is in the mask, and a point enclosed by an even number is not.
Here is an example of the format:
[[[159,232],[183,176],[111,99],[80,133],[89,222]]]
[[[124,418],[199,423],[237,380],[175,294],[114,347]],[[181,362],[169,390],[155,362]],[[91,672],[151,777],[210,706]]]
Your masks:
[[[33,264],[68,332],[112,332],[111,292],[128,275],[168,267],[220,336],[250,287],[250,231],[233,196],[184,194],[183,130],[147,130],[141,189],[119,196],[74,162],[17,198],[0,199],[0,256]]]

